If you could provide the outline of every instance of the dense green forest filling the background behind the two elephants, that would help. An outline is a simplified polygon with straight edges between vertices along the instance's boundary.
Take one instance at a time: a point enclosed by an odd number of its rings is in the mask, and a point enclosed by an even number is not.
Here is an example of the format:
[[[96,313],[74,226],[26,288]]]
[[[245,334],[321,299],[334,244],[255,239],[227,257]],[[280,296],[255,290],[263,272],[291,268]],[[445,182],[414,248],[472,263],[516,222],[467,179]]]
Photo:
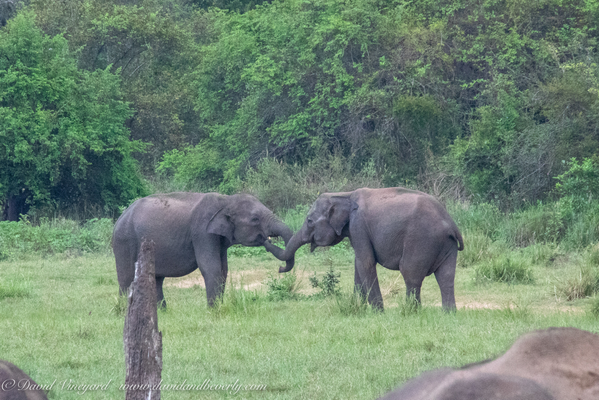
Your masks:
[[[0,0],[0,23],[2,219],[171,190],[599,196],[595,0]]]

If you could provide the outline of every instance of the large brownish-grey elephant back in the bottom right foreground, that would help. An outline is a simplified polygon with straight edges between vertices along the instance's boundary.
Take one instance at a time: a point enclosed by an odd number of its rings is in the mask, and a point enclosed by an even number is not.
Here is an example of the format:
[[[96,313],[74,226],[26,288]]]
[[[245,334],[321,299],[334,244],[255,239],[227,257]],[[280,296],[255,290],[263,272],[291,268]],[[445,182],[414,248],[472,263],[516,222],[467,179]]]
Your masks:
[[[425,372],[380,400],[597,400],[598,360],[595,333],[536,330],[498,359]]]

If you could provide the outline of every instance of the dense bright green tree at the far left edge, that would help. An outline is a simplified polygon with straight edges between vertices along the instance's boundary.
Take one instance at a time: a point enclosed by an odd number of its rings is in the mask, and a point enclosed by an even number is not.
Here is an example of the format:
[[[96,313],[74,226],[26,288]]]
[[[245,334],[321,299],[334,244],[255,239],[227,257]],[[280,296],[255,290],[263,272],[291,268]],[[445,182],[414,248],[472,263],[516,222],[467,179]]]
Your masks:
[[[114,208],[143,195],[119,78],[80,71],[66,40],[20,13],[0,31],[0,198]]]

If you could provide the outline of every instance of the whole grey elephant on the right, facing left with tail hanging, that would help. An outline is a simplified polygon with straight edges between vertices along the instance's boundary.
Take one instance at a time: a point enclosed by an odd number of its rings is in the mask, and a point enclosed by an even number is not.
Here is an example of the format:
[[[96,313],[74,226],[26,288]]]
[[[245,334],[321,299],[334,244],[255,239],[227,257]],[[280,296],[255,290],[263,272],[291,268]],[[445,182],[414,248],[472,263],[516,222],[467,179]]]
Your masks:
[[[368,189],[323,193],[312,205],[302,227],[285,250],[265,243],[279,260],[294,257],[297,249],[311,243],[332,246],[349,237],[356,254],[356,290],[383,309],[376,264],[400,270],[407,296],[420,302],[425,276],[435,274],[443,309],[455,309],[453,281],[462,235],[441,203],[428,194],[406,188]],[[288,272],[281,268],[279,272]]]

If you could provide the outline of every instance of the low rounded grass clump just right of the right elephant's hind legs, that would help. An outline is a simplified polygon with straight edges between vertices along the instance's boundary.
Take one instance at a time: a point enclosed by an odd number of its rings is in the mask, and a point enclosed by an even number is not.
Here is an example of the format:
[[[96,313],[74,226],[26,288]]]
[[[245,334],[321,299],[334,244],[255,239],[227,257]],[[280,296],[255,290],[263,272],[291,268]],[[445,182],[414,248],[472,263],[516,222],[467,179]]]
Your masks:
[[[502,256],[476,267],[476,281],[532,283],[533,273],[524,258]]]

